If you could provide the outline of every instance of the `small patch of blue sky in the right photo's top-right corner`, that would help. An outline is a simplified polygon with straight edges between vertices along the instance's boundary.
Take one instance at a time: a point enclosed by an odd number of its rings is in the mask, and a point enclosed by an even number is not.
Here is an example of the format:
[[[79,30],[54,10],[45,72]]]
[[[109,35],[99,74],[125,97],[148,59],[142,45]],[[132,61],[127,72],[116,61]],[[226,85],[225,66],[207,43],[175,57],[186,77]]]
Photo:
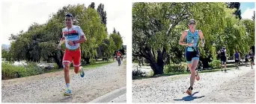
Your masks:
[[[255,10],[255,2],[240,2],[242,19],[251,19]]]

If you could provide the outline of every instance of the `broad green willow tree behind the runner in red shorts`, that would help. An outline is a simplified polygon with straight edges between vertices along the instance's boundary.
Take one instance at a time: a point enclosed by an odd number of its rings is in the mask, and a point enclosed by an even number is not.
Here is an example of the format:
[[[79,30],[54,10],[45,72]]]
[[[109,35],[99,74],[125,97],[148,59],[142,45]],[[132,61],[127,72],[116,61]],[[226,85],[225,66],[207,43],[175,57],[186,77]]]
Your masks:
[[[85,4],[67,5],[52,14],[46,24],[36,23],[28,27],[28,31],[23,31],[10,37],[10,53],[15,60],[27,60],[40,62],[40,59],[50,62],[52,59],[57,63],[58,68],[63,68],[62,57],[65,46],[61,50],[56,50],[62,37],[64,16],[72,13],[74,25],[79,25],[85,33],[88,42],[82,43],[82,59],[90,63],[90,59],[97,56],[97,47],[106,39],[108,34],[105,25],[102,24],[100,15],[93,8],[86,8]]]

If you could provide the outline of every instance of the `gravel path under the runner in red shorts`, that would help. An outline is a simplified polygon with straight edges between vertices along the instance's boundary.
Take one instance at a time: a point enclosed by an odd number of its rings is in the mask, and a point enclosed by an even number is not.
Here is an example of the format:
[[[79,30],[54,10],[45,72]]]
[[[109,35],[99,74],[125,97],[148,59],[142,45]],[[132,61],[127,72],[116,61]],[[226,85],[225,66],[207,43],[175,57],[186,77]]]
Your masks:
[[[1,81],[2,103],[88,103],[103,94],[124,87],[126,65],[118,62],[85,71],[81,78],[70,70],[73,96],[64,97],[64,71]]]

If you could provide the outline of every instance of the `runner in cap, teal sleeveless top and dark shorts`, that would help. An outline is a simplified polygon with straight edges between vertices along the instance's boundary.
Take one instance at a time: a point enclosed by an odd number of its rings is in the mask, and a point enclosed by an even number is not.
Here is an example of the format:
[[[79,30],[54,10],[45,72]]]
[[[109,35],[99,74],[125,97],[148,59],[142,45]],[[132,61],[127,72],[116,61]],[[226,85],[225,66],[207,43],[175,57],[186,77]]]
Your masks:
[[[195,68],[198,66],[199,61],[199,51],[198,51],[198,39],[201,38],[201,45],[204,47],[204,35],[201,30],[195,30],[196,22],[194,19],[189,20],[189,30],[184,30],[180,36],[179,45],[185,45],[185,56],[186,62],[188,63],[189,70],[191,72],[190,76],[190,86],[186,91],[186,94],[191,95],[193,90],[193,85],[195,78],[200,79],[198,71],[195,71]],[[186,38],[186,42],[183,40]]]

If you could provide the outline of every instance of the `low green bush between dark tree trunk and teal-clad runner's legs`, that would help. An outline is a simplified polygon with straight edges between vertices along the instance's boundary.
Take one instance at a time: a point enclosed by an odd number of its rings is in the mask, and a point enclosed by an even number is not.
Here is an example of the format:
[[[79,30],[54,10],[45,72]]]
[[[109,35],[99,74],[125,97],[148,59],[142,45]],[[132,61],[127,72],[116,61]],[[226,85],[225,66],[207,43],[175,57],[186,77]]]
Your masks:
[[[186,62],[181,62],[179,65],[168,65],[164,68],[164,73],[180,73],[185,72],[187,68]]]

